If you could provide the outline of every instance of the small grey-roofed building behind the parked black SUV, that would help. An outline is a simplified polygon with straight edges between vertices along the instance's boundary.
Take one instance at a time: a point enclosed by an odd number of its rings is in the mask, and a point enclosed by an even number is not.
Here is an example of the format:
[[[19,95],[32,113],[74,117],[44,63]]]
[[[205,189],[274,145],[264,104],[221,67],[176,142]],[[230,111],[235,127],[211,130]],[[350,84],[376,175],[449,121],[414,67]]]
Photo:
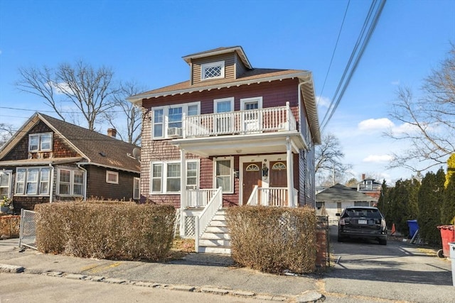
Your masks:
[[[331,222],[338,221],[336,214],[341,214],[346,206],[373,206],[377,202],[378,199],[339,183],[316,194],[317,209],[325,211]]]

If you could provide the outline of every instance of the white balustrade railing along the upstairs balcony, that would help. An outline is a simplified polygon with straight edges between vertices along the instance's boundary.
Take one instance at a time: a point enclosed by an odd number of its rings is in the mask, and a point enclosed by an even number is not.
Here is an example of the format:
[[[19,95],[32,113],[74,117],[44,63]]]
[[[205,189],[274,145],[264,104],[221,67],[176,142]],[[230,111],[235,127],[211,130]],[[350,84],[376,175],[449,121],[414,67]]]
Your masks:
[[[183,116],[183,138],[296,130],[289,102],[286,106]]]

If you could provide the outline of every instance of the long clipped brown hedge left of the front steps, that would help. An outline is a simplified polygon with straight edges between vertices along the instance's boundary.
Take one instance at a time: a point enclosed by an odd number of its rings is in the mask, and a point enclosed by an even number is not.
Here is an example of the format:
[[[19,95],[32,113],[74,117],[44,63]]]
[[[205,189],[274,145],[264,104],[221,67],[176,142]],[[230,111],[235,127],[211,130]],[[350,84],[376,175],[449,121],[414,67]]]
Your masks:
[[[173,241],[175,209],[133,202],[38,204],[36,243],[43,253],[80,258],[163,260]]]

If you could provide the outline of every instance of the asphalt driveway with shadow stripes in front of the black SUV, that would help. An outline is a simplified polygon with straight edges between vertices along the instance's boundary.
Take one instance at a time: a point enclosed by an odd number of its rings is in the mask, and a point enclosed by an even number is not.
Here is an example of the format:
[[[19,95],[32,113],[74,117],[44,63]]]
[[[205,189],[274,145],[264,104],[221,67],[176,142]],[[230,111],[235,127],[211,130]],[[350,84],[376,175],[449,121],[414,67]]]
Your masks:
[[[366,240],[338,243],[337,231],[338,226],[330,226],[332,266],[324,279],[327,292],[408,302],[453,300],[451,262],[437,258],[436,250],[392,238],[387,246]]]

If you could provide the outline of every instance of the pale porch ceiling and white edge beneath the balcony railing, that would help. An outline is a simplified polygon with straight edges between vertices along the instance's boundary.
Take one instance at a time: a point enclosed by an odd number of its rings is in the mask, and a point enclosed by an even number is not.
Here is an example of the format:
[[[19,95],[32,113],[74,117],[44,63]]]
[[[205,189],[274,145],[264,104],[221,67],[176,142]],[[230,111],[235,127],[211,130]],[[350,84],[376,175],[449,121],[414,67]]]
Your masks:
[[[263,153],[286,153],[287,138],[292,153],[307,148],[304,138],[297,131],[255,133],[238,136],[213,136],[204,138],[174,139],[173,145],[204,158],[217,155],[257,155]]]

